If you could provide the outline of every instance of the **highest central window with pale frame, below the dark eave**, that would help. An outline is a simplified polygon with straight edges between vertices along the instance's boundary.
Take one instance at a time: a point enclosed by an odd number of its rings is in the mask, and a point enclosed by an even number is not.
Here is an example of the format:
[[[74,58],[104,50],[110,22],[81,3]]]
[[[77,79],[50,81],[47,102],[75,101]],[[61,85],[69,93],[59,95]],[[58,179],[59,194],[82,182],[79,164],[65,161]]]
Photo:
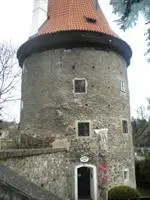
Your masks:
[[[75,79],[74,80],[74,92],[75,93],[85,93],[86,92],[86,80],[85,79]]]

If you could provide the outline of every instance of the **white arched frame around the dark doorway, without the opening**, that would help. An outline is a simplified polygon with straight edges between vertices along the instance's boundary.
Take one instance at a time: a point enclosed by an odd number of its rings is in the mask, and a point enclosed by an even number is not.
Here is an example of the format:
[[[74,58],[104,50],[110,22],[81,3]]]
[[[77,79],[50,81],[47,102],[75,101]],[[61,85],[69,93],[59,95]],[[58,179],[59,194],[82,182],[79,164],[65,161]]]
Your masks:
[[[81,167],[88,167],[91,168],[91,170],[93,171],[93,187],[94,187],[94,191],[93,191],[93,198],[92,200],[97,200],[97,173],[96,173],[96,166],[92,165],[92,164],[79,164],[77,166],[75,166],[75,200],[78,200],[78,169]]]

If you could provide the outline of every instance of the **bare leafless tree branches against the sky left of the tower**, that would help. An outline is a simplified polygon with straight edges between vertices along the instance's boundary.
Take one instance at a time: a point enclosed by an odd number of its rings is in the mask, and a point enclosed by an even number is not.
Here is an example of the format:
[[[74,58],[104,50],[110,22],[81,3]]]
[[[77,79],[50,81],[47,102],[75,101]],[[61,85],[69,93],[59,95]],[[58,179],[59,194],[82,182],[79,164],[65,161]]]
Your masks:
[[[5,113],[8,102],[19,100],[17,88],[21,80],[21,70],[17,66],[16,48],[11,42],[0,43],[0,118]]]

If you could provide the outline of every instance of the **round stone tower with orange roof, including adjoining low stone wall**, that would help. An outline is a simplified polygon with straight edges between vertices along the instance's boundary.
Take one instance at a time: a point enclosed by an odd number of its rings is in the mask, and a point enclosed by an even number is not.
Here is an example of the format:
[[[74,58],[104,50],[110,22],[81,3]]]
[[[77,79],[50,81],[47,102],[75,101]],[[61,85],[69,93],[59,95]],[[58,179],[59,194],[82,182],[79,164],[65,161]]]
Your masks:
[[[20,141],[54,153],[17,161],[20,174],[63,200],[105,199],[108,187],[135,187],[131,54],[97,0],[49,0],[46,21],[17,56]]]

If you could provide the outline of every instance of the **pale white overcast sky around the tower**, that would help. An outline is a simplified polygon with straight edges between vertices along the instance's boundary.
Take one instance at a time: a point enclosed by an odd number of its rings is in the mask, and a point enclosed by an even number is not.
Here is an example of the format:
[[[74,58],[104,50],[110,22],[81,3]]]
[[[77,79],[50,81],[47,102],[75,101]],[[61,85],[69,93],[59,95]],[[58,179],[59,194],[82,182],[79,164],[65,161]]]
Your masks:
[[[11,40],[17,46],[25,42],[31,34],[32,0],[0,0],[0,42]],[[137,115],[137,108],[146,105],[146,98],[150,97],[150,64],[147,63],[144,19],[139,18],[138,24],[126,32],[119,30],[116,16],[112,14],[109,0],[99,0],[100,6],[112,29],[124,39],[133,50],[131,65],[128,67],[131,115]],[[9,104],[9,120],[19,121],[20,103]]]

